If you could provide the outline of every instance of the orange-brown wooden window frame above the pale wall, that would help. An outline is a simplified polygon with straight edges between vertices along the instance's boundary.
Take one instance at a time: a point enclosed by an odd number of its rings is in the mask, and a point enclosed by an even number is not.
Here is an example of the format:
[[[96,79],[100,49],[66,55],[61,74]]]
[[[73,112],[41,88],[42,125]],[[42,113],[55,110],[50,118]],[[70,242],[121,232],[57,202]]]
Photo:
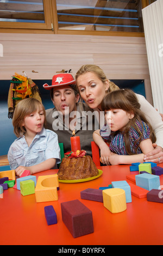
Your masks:
[[[149,5],[149,0],[141,0],[142,8]],[[143,32],[120,32],[120,31],[80,31],[59,29],[57,16],[57,3],[55,0],[43,0],[45,23],[27,22],[0,22],[0,33],[45,33],[67,35],[106,35],[106,36],[138,36],[144,37]]]

